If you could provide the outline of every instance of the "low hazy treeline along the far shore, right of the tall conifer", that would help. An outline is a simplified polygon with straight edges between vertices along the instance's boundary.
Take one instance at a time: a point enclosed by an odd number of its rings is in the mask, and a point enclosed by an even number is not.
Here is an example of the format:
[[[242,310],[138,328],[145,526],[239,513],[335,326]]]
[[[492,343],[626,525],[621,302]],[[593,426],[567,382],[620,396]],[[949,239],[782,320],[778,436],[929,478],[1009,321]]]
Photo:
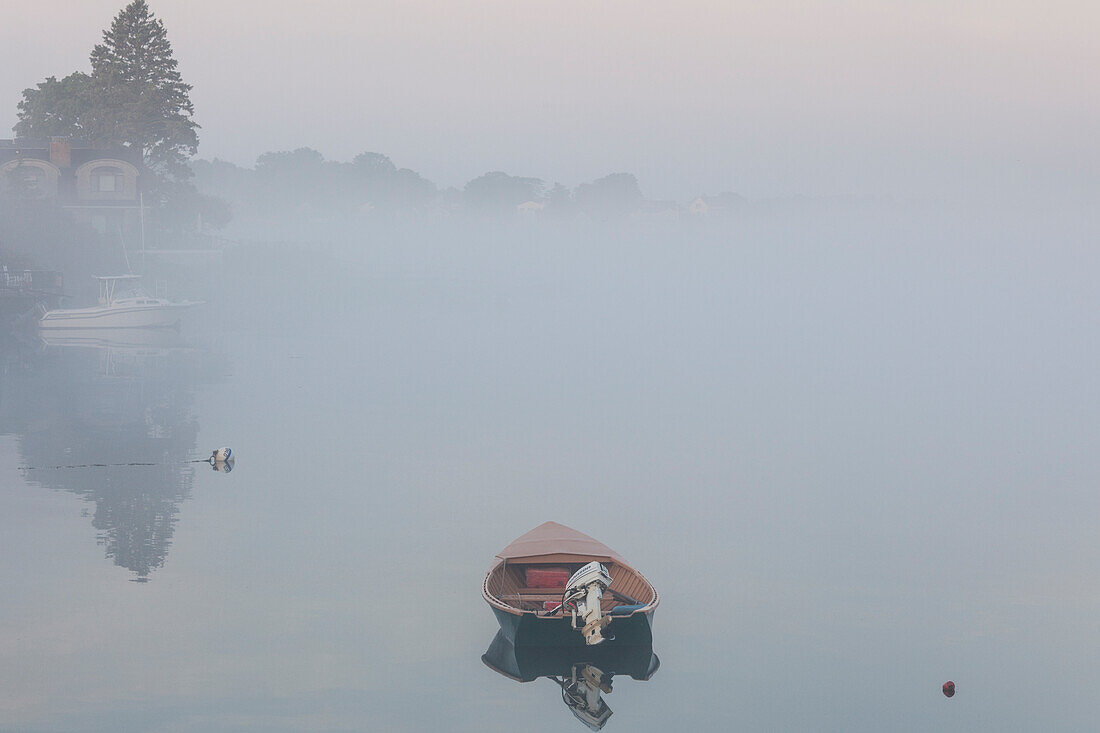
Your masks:
[[[570,189],[494,171],[461,189],[442,188],[416,171],[398,168],[388,156],[370,152],[338,162],[299,147],[264,153],[252,168],[221,160],[195,161],[191,167],[204,194],[229,201],[234,212],[246,216],[474,212],[607,218],[636,211],[645,200],[629,173]]]

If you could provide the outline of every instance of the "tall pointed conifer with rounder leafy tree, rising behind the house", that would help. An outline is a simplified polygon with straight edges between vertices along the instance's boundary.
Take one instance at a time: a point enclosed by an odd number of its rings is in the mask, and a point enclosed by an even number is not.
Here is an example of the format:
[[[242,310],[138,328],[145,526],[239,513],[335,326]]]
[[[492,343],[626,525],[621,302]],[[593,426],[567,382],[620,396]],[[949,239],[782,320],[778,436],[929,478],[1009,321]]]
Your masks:
[[[164,23],[133,0],[91,52],[91,75],[50,77],[23,91],[15,133],[67,135],[142,151],[157,178],[186,179],[198,149],[195,108]]]

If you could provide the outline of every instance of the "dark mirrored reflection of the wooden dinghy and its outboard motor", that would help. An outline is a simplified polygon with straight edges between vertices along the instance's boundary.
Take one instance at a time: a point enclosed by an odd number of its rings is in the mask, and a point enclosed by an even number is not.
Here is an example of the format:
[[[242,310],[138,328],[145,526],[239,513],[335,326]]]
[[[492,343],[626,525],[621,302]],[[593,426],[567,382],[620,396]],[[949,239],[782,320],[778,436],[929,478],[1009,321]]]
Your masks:
[[[603,696],[612,692],[616,675],[644,681],[661,666],[651,644],[516,647],[503,631],[496,633],[482,661],[517,682],[551,680],[570,712],[593,731],[603,729],[612,716]]]

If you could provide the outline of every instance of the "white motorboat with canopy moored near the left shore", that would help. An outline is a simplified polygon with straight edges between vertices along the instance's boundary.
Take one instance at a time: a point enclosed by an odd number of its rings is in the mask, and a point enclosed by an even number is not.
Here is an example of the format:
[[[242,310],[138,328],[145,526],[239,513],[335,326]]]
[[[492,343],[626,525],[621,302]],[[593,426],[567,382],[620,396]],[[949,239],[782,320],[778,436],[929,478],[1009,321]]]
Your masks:
[[[173,303],[138,287],[140,275],[97,277],[99,305],[47,310],[40,328],[167,328],[179,322],[180,311],[198,302]]]

